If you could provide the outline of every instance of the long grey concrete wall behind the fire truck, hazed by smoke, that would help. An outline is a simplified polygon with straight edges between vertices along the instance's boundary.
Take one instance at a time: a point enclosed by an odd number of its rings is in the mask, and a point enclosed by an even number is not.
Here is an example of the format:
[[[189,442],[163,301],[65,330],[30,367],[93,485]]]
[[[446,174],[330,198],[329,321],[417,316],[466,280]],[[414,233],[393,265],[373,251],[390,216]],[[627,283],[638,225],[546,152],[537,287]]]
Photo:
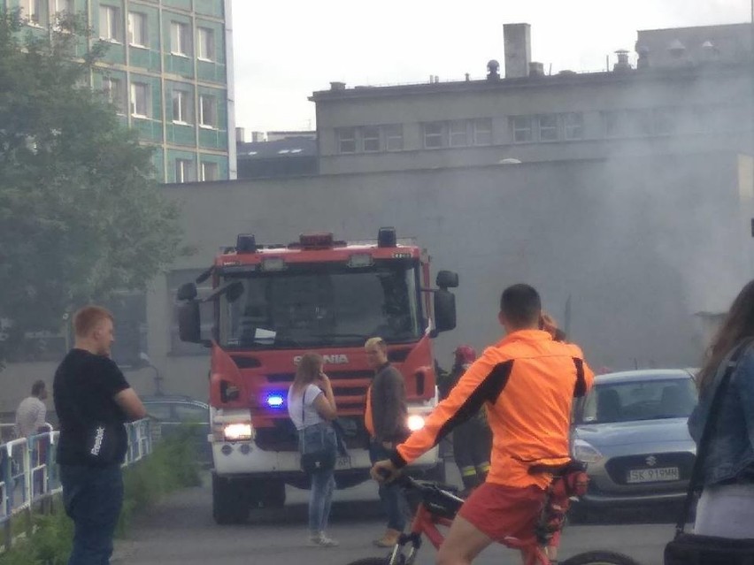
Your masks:
[[[703,323],[695,313],[727,309],[754,272],[752,183],[748,157],[709,153],[164,190],[181,203],[185,243],[197,251],[175,269],[208,266],[237,233],[263,243],[315,230],[364,239],[395,225],[429,250],[435,271],[460,274],[458,328],[437,340],[443,365],[459,343],[498,339],[499,294],[526,281],[561,322],[570,297],[570,335],[590,363],[627,369],[698,363]],[[165,277],[150,289],[147,310],[149,355],[165,390],[205,398],[208,359],[170,354]],[[52,367],[38,370],[51,376]],[[152,374],[128,378],[151,393]],[[3,403],[26,394],[31,378],[38,373],[19,366],[0,372]]]

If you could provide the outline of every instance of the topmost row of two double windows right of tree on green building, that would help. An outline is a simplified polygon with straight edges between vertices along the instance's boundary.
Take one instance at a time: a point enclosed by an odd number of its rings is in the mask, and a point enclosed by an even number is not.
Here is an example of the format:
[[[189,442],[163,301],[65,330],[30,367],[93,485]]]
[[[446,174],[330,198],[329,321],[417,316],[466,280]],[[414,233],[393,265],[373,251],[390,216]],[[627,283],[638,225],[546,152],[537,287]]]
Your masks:
[[[122,43],[123,19],[118,6],[99,7],[99,35],[108,42]],[[170,22],[170,52],[181,57],[192,57],[193,34],[191,25],[183,21]],[[154,39],[150,37],[147,14],[141,11],[128,11],[127,41],[133,47],[150,48]],[[196,58],[215,61],[215,30],[212,27],[196,27]]]

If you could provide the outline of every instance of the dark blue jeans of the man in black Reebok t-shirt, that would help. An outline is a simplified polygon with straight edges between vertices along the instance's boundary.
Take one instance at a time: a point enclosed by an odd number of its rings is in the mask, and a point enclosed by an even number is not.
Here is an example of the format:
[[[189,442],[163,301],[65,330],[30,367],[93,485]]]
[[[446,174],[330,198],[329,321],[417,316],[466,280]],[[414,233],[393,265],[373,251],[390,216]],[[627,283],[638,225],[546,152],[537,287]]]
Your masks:
[[[61,465],[65,514],[73,520],[73,551],[68,565],[109,565],[112,536],[123,506],[120,465]]]

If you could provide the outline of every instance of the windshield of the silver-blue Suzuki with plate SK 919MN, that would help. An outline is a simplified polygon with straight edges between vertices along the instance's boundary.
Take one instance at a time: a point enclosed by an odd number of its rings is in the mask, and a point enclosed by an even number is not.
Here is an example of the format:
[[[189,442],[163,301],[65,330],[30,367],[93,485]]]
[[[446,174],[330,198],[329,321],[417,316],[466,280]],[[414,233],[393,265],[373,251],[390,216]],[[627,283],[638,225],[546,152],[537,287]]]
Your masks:
[[[581,412],[582,424],[688,417],[696,406],[692,378],[657,378],[596,385]]]

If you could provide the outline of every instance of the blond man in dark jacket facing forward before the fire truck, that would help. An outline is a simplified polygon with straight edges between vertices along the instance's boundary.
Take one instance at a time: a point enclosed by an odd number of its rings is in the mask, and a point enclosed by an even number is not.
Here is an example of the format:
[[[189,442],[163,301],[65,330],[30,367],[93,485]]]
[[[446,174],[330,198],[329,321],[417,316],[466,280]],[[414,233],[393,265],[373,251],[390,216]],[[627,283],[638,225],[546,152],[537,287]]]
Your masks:
[[[369,457],[372,462],[389,456],[409,436],[408,408],[404,377],[388,362],[388,346],[381,338],[367,340],[366,360],[374,370],[372,385],[366,392],[364,423],[369,431]],[[392,547],[406,525],[408,503],[400,486],[380,484],[380,500],[388,517],[388,528],[375,546]]]

